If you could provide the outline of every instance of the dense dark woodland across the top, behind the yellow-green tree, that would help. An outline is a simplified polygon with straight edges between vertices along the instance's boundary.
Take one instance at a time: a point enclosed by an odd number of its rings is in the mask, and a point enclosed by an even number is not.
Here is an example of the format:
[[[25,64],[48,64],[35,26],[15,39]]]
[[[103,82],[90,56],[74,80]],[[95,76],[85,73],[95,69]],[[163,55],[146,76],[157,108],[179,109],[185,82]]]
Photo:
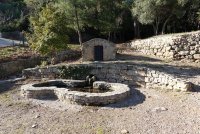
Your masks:
[[[200,28],[199,0],[2,0],[0,30],[32,31],[27,18],[39,16],[47,5],[67,16],[71,43],[94,37],[125,42]]]

